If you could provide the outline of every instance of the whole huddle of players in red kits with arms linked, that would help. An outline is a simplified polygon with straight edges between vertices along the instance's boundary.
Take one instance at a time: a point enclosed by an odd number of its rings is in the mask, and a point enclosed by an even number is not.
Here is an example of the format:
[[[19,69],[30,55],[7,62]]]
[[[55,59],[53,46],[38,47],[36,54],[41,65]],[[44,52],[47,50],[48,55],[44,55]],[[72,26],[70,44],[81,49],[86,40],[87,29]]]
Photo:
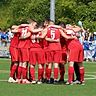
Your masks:
[[[64,65],[68,62],[66,85],[73,84],[74,71],[77,83],[84,84],[83,46],[78,40],[80,30],[78,26],[65,26],[64,23],[55,25],[51,20],[45,20],[43,25],[37,25],[33,20],[30,24],[13,25],[8,82],[23,84],[41,84],[43,80],[48,84],[64,82]],[[35,77],[36,65],[38,79]]]

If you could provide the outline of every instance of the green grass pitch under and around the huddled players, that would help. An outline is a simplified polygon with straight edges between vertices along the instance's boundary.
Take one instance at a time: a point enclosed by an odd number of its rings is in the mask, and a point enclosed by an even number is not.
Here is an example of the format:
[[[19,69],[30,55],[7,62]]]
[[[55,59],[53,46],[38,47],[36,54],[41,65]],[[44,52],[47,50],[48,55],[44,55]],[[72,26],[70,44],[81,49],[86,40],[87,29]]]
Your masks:
[[[84,62],[84,66],[85,78],[96,76],[96,62]],[[0,59],[0,80],[8,80],[9,69],[10,59]],[[84,86],[12,84],[0,81],[0,96],[96,96],[96,79],[86,80]]]

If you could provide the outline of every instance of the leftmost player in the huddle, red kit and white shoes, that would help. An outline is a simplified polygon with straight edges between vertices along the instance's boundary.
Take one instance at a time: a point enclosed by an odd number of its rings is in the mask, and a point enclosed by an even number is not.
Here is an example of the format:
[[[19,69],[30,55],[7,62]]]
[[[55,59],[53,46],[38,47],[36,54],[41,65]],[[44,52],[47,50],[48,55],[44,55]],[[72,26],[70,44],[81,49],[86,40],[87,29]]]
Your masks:
[[[10,48],[9,48],[10,55],[11,55],[11,68],[10,68],[10,78],[8,82],[15,83],[16,81],[14,80],[14,75],[16,73],[18,63],[19,63],[19,60],[18,60],[19,34],[16,32],[18,29],[18,26],[13,25],[11,29],[12,29],[11,31],[13,33],[13,36],[11,37]]]

